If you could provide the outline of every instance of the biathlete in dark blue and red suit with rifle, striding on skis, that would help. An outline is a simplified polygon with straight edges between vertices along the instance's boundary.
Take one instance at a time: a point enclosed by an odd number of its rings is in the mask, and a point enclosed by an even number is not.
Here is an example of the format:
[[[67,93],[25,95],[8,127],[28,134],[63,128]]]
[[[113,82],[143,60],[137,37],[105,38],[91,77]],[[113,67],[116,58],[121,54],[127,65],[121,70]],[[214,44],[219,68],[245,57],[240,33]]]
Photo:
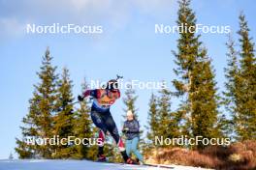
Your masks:
[[[119,136],[116,125],[112,119],[112,113],[110,111],[111,105],[116,99],[120,98],[120,91],[118,89],[117,79],[120,78],[117,75],[116,79],[112,79],[108,82],[105,89],[86,90],[78,97],[82,101],[86,97],[93,98],[91,106],[91,120],[99,130],[99,141],[102,145],[98,148],[98,161],[106,161],[107,158],[104,156],[104,141],[107,131],[110,132],[114,139],[125,163],[137,164],[131,157],[127,156],[125,151],[124,143]]]

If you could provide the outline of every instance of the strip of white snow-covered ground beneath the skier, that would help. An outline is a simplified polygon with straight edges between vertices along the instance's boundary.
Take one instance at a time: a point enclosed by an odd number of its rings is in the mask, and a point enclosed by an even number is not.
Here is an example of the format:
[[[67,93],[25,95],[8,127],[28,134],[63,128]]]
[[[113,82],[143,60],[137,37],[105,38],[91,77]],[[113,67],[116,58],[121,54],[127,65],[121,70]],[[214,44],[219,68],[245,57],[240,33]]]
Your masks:
[[[188,166],[171,165],[175,170],[199,170]],[[0,170],[166,170],[139,165],[99,163],[88,160],[0,160]]]

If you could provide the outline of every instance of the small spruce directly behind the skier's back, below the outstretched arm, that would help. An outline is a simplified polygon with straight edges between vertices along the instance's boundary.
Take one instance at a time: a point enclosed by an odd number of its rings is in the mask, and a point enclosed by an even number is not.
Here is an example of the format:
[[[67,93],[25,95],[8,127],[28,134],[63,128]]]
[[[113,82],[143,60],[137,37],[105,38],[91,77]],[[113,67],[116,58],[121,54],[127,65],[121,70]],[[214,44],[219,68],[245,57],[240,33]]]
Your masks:
[[[82,93],[87,89],[87,83],[84,78],[84,82],[81,85]],[[74,120],[74,135],[80,139],[93,139],[94,134],[97,133],[97,129],[93,126],[90,119],[90,107],[89,101],[84,99],[80,102],[80,108],[75,112]],[[80,144],[75,146],[75,152],[72,157],[74,158],[86,158],[86,159],[96,159],[97,156],[97,146],[89,146]]]

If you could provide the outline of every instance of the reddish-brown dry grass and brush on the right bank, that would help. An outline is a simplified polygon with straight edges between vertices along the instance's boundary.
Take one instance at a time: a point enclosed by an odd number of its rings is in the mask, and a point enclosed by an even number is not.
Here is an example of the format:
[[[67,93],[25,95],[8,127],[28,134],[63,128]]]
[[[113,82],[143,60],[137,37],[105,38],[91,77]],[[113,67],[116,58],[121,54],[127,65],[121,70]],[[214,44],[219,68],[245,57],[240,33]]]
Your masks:
[[[162,164],[180,164],[225,170],[256,169],[256,141],[238,142],[228,147],[210,146],[203,151],[182,148],[153,150],[146,161]]]

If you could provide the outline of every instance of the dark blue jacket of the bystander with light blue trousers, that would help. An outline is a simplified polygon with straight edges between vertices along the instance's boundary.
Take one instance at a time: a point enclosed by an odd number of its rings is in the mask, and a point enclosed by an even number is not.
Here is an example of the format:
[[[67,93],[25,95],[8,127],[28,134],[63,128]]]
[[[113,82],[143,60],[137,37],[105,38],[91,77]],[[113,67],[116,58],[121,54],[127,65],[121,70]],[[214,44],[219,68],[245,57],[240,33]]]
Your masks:
[[[124,128],[129,128],[129,130],[125,132],[125,136],[128,140],[140,136],[140,125],[137,120],[125,121],[123,125],[123,129]]]

